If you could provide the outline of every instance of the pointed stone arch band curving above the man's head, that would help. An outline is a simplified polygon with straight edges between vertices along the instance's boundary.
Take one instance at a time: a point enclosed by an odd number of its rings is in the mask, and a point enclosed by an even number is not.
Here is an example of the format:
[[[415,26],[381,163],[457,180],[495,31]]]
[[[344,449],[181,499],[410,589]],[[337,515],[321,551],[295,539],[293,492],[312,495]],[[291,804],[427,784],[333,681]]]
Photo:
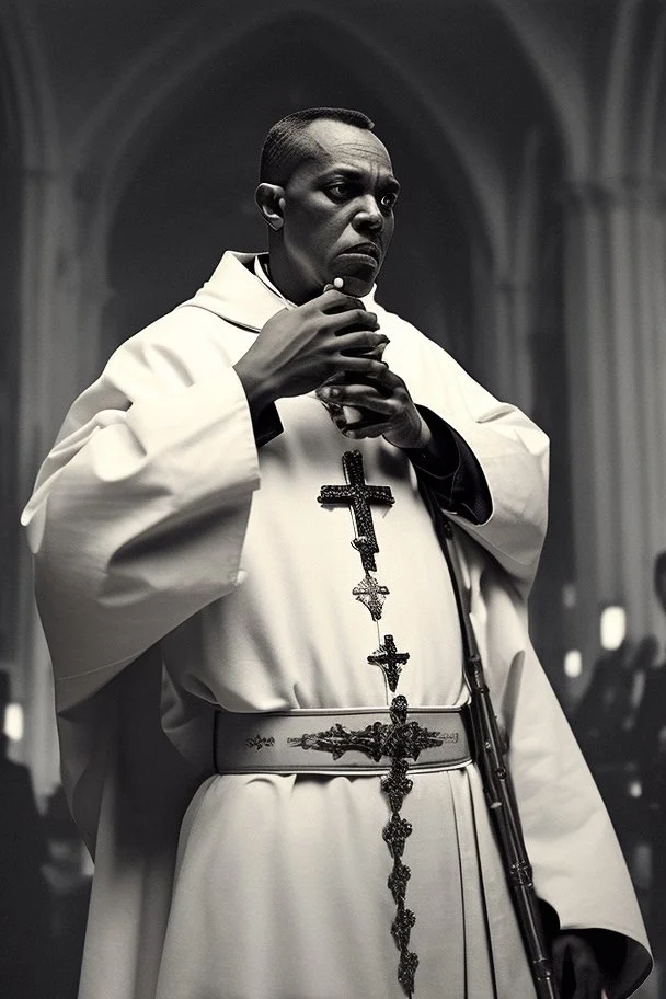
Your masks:
[[[387,90],[400,92],[401,104],[414,125],[418,124],[434,137],[433,146],[440,156],[439,169],[447,174],[460,204],[466,206],[470,229],[486,252],[496,255],[501,222],[493,218],[491,184],[485,190],[482,185],[484,171],[478,151],[456,133],[445,111],[412,68],[407,72],[393,64],[381,44],[364,36],[353,21],[332,9],[324,11],[315,3],[285,7],[271,18],[262,18],[252,9],[244,22],[237,21],[221,39],[215,33],[202,34],[199,18],[182,21],[153,43],[140,65],[128,68],[100,114],[80,136],[74,150],[80,191],[92,208],[90,237],[99,239],[107,229],[128,180],[173,114],[174,104],[186,102],[216,62],[243,47],[251,48],[253,38],[264,31],[279,34],[280,27],[294,19],[301,23],[317,22],[323,36],[337,36],[347,51],[352,49],[358,56],[359,62],[371,61]],[[182,50],[184,57],[179,55]],[[443,160],[446,166],[441,165]]]

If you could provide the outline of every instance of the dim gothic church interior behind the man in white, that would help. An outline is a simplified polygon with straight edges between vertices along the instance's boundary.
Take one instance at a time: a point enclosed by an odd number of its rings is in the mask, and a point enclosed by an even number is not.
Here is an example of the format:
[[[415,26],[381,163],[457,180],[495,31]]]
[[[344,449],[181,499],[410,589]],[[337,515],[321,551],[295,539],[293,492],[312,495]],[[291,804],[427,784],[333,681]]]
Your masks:
[[[531,635],[664,960],[665,45],[663,0],[4,0],[0,882],[13,868],[22,887],[2,933],[31,921],[15,999],[74,999],[91,873],[21,509],[112,352],[225,250],[265,248],[263,137],[317,105],[368,114],[402,185],[378,300],[551,438]],[[658,973],[640,996],[666,996]]]

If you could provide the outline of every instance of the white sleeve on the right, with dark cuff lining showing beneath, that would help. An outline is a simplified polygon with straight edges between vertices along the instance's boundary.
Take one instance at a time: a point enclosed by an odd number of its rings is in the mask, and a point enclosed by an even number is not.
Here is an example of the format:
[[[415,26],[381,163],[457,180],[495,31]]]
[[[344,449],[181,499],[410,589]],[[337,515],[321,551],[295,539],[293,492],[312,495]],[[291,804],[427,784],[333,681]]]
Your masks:
[[[383,359],[401,375],[414,402],[444,420],[481,469],[491,513],[474,524],[448,512],[489,551],[525,596],[535,578],[548,524],[549,440],[516,406],[501,402],[453,358],[409,323],[380,311],[389,343]]]

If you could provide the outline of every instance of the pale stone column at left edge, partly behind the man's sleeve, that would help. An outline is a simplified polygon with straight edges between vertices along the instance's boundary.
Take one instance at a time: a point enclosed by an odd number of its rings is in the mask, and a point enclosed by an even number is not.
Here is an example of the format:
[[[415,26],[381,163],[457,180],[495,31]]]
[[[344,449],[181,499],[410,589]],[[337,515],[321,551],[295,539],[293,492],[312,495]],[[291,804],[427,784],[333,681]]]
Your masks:
[[[22,202],[18,371],[21,506],[32,492],[36,471],[70,403],[97,374],[96,317],[105,299],[103,282],[87,284],[82,279],[81,262],[88,257],[78,237],[72,176],[66,171],[25,170]],[[31,556],[23,538],[19,544],[18,586],[18,668],[13,686],[25,705],[26,717],[24,740],[16,754],[31,766],[37,793],[45,795],[59,783],[53,681],[33,598]]]

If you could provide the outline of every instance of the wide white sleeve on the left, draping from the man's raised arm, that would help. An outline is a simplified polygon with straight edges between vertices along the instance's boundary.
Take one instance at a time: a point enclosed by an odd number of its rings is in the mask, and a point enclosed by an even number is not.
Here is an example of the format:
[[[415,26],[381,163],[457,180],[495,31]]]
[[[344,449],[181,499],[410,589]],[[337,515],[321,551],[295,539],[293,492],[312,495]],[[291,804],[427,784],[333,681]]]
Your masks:
[[[250,411],[202,329],[219,320],[184,311],[77,400],[23,515],[60,711],[240,579],[259,485]]]

